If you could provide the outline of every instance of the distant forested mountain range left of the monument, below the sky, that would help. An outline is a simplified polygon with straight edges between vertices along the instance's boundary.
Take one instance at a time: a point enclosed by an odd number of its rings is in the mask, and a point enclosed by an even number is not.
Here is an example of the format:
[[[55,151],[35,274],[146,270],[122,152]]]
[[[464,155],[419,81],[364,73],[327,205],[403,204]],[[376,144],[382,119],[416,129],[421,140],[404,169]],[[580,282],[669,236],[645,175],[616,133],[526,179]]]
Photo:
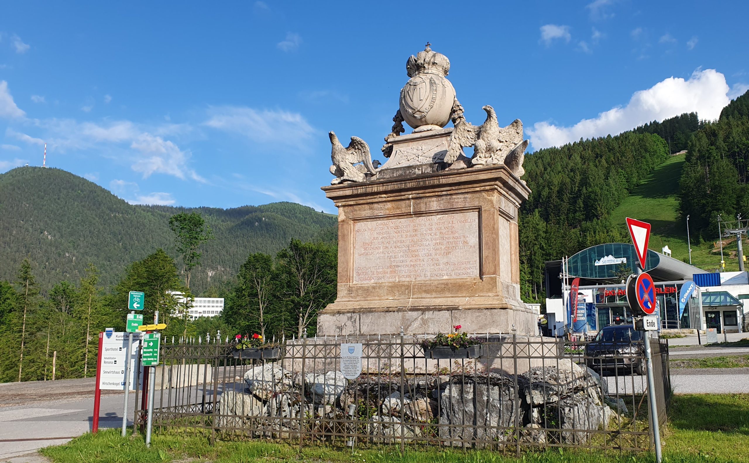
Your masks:
[[[0,279],[12,280],[29,258],[38,264],[42,291],[78,281],[88,262],[100,270],[102,285],[114,285],[127,264],[157,248],[177,257],[169,217],[184,211],[202,214],[216,237],[201,247],[194,294],[233,278],[252,252],[275,254],[292,238],[330,238],[337,224],[336,216],[290,202],[231,209],[130,205],[70,172],[19,167],[0,175]]]

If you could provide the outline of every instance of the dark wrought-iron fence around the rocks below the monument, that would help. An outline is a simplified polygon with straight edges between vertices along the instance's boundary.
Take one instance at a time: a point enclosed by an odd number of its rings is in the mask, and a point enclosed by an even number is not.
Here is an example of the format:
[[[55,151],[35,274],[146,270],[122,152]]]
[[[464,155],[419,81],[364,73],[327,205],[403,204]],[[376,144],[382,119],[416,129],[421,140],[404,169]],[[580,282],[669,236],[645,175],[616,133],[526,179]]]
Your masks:
[[[211,439],[306,445],[651,450],[642,342],[484,336],[476,358],[435,359],[422,337],[310,338],[278,359],[235,358],[231,343],[162,345],[154,426]],[[341,343],[362,343],[343,378]],[[667,341],[651,341],[659,417],[670,400]],[[145,423],[145,394],[136,425]]]

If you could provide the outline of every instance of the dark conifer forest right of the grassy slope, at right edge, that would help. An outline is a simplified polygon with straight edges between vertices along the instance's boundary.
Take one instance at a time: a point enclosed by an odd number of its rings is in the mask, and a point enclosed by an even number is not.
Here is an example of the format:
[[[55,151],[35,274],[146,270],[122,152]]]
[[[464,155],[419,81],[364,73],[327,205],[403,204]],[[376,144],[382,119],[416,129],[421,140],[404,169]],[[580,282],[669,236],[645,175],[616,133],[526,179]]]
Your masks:
[[[694,240],[718,236],[718,215],[749,217],[749,91],[733,100],[715,122],[706,122],[688,144],[682,178],[681,214],[702,232]]]

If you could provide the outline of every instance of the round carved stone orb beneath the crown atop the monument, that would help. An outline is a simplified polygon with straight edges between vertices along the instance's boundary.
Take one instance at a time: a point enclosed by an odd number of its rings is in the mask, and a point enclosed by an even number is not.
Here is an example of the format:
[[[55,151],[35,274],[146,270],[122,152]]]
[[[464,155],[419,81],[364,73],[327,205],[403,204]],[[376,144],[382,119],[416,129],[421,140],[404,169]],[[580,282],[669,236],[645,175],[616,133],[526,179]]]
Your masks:
[[[425,125],[445,127],[450,121],[455,88],[440,73],[422,72],[401,89],[401,115],[417,129]]]

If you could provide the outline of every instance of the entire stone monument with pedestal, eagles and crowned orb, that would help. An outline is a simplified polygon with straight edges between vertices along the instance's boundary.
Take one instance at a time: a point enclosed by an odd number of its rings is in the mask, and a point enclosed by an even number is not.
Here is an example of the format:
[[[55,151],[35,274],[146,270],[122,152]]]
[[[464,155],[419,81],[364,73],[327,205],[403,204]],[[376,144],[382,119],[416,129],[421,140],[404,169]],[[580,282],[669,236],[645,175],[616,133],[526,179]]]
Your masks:
[[[467,122],[446,79],[450,61],[429,45],[406,63],[386,163],[362,139],[344,148],[330,132],[336,178],[323,190],[339,209],[338,295],[318,315],[318,336],[449,333],[456,324],[536,334],[520,298],[523,124],[500,127],[491,106],[483,124]],[[404,122],[412,133],[403,135]]]

